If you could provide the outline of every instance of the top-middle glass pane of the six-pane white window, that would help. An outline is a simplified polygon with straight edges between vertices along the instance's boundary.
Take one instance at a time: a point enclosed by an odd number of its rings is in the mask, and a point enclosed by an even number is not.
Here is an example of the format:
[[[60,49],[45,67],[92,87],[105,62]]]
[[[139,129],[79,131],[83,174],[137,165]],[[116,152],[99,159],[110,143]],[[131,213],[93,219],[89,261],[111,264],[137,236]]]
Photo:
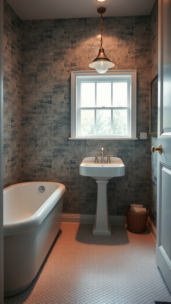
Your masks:
[[[97,107],[111,107],[111,82],[97,83]]]

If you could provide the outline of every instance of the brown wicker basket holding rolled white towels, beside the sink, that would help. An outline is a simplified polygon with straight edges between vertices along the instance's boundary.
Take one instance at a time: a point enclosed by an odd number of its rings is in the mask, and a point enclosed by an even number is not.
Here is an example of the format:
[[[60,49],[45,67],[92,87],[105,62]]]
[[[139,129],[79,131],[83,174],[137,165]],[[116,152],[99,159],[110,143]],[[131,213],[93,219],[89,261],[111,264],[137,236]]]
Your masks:
[[[147,225],[149,210],[146,213],[133,213],[130,211],[130,207],[126,208],[127,216],[127,230],[133,233],[141,233],[145,231]]]

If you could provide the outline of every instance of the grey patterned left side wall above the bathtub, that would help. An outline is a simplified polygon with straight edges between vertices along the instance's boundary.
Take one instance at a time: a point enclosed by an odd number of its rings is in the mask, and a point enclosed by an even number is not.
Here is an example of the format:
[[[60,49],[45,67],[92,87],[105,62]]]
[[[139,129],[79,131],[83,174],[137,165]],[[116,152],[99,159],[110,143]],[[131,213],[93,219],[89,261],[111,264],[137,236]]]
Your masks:
[[[4,0],[4,187],[20,182],[21,20]]]

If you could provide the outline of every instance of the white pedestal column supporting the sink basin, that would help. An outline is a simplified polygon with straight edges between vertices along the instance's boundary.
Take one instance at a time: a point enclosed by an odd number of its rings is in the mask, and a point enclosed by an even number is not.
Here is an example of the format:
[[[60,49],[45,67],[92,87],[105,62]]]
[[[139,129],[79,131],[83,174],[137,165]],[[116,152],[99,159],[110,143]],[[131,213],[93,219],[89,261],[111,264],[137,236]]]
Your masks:
[[[93,225],[92,234],[110,236],[111,226],[109,223],[108,204],[107,204],[107,183],[109,181],[99,181],[97,183],[97,206],[96,219]]]

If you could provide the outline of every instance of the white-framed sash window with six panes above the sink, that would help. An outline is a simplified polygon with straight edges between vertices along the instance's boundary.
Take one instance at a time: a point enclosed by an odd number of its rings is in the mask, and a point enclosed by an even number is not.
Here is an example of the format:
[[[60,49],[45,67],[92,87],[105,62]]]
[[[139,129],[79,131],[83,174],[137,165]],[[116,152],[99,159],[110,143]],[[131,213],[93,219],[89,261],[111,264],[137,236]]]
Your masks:
[[[136,70],[72,72],[71,137],[135,138],[135,101]]]

